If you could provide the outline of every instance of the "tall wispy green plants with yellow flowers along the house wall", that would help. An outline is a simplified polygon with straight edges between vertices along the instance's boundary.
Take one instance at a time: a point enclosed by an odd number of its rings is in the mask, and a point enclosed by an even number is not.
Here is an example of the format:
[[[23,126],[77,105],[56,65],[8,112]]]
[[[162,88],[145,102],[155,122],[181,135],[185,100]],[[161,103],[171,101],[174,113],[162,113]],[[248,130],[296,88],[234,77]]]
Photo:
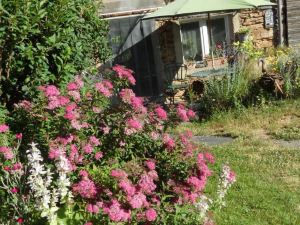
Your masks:
[[[264,105],[278,98],[295,98],[300,95],[298,51],[274,48],[263,55],[251,41],[235,45],[238,52],[235,64],[224,72],[224,76],[212,77],[206,81],[205,93],[200,99],[203,113]],[[261,86],[259,79],[263,75],[260,64],[262,56],[266,57],[267,73],[283,77],[283,95],[277,96]]]

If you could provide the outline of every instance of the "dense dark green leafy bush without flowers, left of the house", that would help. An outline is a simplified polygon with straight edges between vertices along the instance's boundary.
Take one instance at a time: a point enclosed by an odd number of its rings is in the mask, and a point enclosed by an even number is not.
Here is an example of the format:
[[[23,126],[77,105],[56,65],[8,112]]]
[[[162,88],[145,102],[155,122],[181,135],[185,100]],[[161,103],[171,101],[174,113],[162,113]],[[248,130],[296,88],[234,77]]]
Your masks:
[[[0,96],[34,96],[35,87],[63,84],[110,54],[107,22],[94,0],[0,2]]]

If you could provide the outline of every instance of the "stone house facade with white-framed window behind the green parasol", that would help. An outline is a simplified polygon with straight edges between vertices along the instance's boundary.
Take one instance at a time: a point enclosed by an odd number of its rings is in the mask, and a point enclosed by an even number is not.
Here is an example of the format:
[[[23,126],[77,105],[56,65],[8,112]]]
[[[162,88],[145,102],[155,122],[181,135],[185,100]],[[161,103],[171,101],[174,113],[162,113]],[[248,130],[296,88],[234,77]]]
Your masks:
[[[279,43],[276,6],[212,12],[208,22],[206,14],[176,20],[143,20],[145,15],[165,6],[166,0],[103,0],[103,3],[102,16],[110,25],[113,63],[135,71],[135,91],[140,96],[161,94],[168,86],[170,71],[175,70],[177,77],[191,75],[197,67],[209,68],[211,52],[220,59],[214,63],[222,66],[224,60],[219,50],[237,40],[241,27],[250,29],[259,48]]]

